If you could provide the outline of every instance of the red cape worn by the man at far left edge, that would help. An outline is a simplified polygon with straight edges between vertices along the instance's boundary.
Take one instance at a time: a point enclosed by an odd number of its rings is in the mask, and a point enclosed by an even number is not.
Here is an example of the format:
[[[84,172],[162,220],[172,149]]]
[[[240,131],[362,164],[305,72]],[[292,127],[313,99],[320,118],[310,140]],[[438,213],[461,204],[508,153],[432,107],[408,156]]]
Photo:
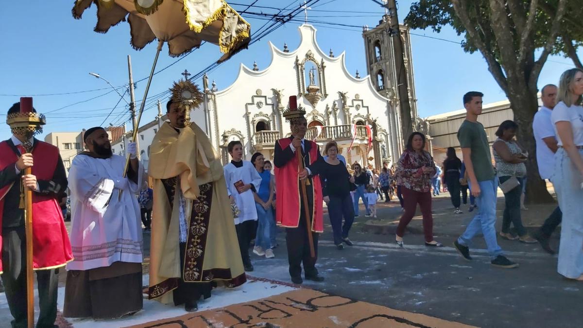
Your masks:
[[[18,160],[18,156],[6,141],[0,142],[0,153],[2,154],[0,170],[14,166]],[[57,147],[36,141],[32,154],[36,159],[32,174],[38,180],[51,180],[59,160]],[[0,189],[0,227],[4,206],[19,206],[19,204],[4,204],[4,196],[11,187],[12,184],[9,184]],[[0,250],[1,248],[2,236],[0,235]],[[57,196],[55,194],[42,195],[33,191],[33,270],[61,267],[72,259],[71,242],[69,242],[61,207],[57,203]],[[0,273],[2,270],[0,257]]]

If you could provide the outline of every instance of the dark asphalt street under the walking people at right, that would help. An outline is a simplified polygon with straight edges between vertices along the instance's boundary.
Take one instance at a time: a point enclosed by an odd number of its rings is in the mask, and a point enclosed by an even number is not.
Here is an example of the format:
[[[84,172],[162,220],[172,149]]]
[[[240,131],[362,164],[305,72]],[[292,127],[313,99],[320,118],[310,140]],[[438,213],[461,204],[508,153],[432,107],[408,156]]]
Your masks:
[[[525,225],[532,229],[553,208],[538,205],[524,211]],[[498,206],[499,218],[501,210],[503,203]],[[304,284],[329,294],[480,327],[581,327],[583,284],[556,272],[556,256],[543,252],[538,244],[498,238],[507,256],[520,266],[496,268],[490,264],[483,238],[476,238],[473,260],[466,261],[451,246],[473,214],[453,215],[446,197],[436,198],[434,212],[434,236],[445,247],[424,246],[422,234],[408,234],[401,249],[394,235],[362,232],[368,218],[359,217],[350,235],[354,246],[337,250],[325,216],[317,267],[326,280]],[[381,204],[378,214],[378,219],[395,221],[401,211],[395,204]],[[416,218],[411,225],[420,231],[420,222]],[[554,247],[558,238],[556,234]],[[289,281],[285,234],[280,233],[278,240],[281,245],[275,259],[252,254],[255,271],[251,275]]]

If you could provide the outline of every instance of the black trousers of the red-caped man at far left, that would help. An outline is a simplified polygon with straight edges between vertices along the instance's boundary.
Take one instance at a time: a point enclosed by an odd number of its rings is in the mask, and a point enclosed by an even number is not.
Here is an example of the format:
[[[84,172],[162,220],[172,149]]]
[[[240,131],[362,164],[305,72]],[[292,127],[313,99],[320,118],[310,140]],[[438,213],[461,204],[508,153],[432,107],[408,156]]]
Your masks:
[[[26,236],[24,226],[2,229],[2,281],[6,300],[14,320],[13,328],[27,327],[26,305]],[[56,327],[59,268],[37,270],[38,307],[36,326]]]

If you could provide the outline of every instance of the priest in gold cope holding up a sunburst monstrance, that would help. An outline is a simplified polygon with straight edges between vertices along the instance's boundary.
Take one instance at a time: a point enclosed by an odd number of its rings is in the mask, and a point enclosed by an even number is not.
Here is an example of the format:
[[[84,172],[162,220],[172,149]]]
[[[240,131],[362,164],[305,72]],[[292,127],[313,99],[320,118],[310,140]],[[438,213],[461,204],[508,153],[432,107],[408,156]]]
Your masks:
[[[181,83],[188,84],[189,81]],[[198,92],[194,85],[190,94]],[[154,179],[149,298],[198,309],[212,285],[246,281],[223,165],[178,93],[150,148]]]

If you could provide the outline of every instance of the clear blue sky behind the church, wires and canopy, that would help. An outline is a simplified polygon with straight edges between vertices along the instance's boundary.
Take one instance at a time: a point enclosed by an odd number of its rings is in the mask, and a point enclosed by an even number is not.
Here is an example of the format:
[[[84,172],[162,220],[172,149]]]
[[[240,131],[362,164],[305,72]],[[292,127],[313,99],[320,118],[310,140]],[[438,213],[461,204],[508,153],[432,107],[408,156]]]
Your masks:
[[[227,1],[237,11],[242,12],[254,0]],[[399,1],[399,20],[403,20],[413,1]],[[93,32],[97,22],[96,6],[88,9],[83,18],[75,20],[71,15],[73,1],[10,1],[0,12],[0,31],[3,47],[0,47],[0,111],[5,112],[19,100],[19,96],[34,95],[34,107],[47,115],[48,124],[44,134],[54,131],[80,131],[94,125],[119,124],[128,121],[127,105],[117,93],[101,79],[89,72],[97,72],[114,86],[128,83],[127,55],[132,57],[134,81],[149,74],[156,44],[151,43],[141,51],[135,51],[129,44],[129,25],[122,22],[106,34]],[[299,6],[299,1],[258,0],[256,6],[284,8]],[[273,9],[248,9],[254,13],[273,13]],[[376,26],[383,9],[369,0],[322,0],[308,13],[308,20],[336,22],[353,26]],[[303,20],[304,15],[297,16]],[[265,20],[248,19],[252,33],[264,25]],[[289,22],[275,32],[241,51],[229,61],[209,73],[210,81],[215,80],[217,88],[223,89],[233,83],[240,63],[252,67],[257,61],[260,69],[269,65],[268,41],[283,48],[287,43],[290,50],[298,46],[297,26],[300,22]],[[336,55],[346,51],[346,67],[354,74],[366,74],[364,41],[360,27],[340,27],[314,23],[318,29],[317,39],[322,50],[330,48]],[[487,103],[505,99],[487,65],[479,53],[464,53],[459,44],[437,37],[459,42],[449,28],[441,33],[431,30],[413,30],[413,64],[417,90],[419,114],[422,117],[460,109],[461,96],[467,90],[481,90]],[[583,52],[580,51],[583,56]],[[220,57],[218,47],[203,45],[186,57],[177,61],[167,55],[166,46],[160,54],[157,71],[171,65],[154,76],[149,95],[164,92],[173,81],[181,78],[184,69],[195,74]],[[571,68],[572,62],[563,57],[550,57],[539,79],[539,85],[557,83],[559,75]],[[197,83],[202,84],[201,81]],[[141,102],[146,81],[138,82],[136,102]],[[101,90],[96,90],[101,89]],[[87,90],[93,90],[85,92]],[[80,93],[76,93],[80,92]],[[120,92],[124,92],[120,89]],[[67,93],[65,95],[54,95]],[[105,95],[104,95],[105,94]],[[94,98],[94,99],[92,99]],[[129,96],[125,99],[129,102]],[[164,99],[162,99],[164,100]],[[146,106],[148,107],[148,106]],[[142,124],[156,115],[155,107],[147,109]],[[105,121],[104,121],[105,120]],[[128,122],[128,128],[131,124]],[[6,138],[9,127],[0,125],[0,135]]]

